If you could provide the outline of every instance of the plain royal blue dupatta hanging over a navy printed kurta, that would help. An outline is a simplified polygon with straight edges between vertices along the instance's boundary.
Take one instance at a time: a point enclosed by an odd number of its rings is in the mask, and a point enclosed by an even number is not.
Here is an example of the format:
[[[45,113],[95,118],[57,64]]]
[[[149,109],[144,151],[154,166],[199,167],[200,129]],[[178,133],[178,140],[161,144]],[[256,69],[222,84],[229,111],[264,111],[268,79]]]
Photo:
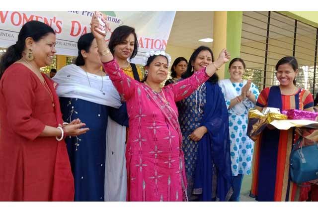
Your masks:
[[[228,201],[233,193],[228,109],[218,84],[207,82],[206,90],[201,126],[208,132],[198,142],[194,189],[199,201]]]

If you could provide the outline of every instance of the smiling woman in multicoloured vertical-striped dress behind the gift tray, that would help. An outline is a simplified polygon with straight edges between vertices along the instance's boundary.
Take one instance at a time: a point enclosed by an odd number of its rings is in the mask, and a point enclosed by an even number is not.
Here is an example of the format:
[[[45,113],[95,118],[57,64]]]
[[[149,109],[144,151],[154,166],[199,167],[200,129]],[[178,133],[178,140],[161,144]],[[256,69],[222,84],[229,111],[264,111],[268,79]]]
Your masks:
[[[312,94],[296,87],[298,63],[288,56],[278,61],[276,78],[279,86],[265,88],[259,95],[256,109],[275,107],[282,110],[314,111]],[[296,142],[293,129],[265,128],[255,143],[251,196],[258,201],[299,201],[301,187],[289,180],[289,157]]]

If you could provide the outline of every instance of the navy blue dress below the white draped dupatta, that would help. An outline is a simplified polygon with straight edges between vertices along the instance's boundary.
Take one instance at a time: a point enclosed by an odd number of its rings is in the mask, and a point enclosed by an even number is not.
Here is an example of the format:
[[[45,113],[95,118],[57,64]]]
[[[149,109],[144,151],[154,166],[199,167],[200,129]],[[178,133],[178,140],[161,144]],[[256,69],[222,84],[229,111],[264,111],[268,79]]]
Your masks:
[[[90,130],[66,138],[75,181],[75,201],[104,201],[108,106],[60,97],[63,120],[79,118]]]

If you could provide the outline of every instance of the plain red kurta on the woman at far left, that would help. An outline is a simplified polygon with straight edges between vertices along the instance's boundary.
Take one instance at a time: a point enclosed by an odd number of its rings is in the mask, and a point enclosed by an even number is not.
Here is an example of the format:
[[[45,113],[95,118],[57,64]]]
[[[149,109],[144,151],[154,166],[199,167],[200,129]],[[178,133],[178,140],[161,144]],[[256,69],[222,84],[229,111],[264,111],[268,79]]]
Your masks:
[[[31,70],[19,63],[6,69],[0,80],[0,201],[73,200],[65,142],[39,137],[45,125],[62,120],[56,114]]]

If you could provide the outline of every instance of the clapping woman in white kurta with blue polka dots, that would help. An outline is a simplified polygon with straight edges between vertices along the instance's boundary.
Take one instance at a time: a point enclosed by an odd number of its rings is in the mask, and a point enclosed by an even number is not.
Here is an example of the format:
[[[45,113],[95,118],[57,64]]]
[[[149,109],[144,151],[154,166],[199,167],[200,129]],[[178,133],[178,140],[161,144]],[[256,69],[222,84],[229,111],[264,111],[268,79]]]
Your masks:
[[[229,111],[231,140],[231,167],[234,193],[230,201],[239,201],[243,175],[251,174],[254,141],[247,136],[248,110],[255,106],[259,95],[257,87],[243,81],[245,63],[235,58],[229,66],[230,79],[220,81],[220,87]]]

